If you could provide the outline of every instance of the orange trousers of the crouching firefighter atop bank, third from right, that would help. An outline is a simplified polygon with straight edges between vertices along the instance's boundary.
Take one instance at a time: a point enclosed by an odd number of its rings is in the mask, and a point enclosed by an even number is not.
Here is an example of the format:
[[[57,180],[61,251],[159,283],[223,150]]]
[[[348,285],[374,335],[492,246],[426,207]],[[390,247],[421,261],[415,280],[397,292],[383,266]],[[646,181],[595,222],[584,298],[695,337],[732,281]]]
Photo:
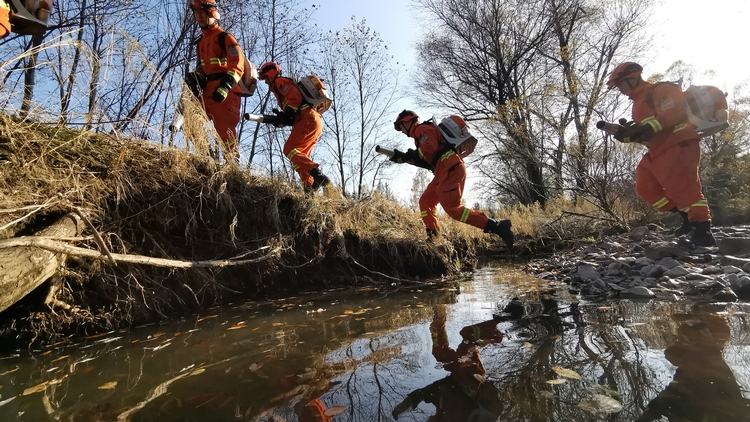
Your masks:
[[[310,170],[318,167],[318,163],[310,159],[310,154],[322,133],[323,119],[320,114],[310,106],[302,106],[294,118],[292,133],[284,143],[284,155],[292,162],[305,186],[312,185]]]

